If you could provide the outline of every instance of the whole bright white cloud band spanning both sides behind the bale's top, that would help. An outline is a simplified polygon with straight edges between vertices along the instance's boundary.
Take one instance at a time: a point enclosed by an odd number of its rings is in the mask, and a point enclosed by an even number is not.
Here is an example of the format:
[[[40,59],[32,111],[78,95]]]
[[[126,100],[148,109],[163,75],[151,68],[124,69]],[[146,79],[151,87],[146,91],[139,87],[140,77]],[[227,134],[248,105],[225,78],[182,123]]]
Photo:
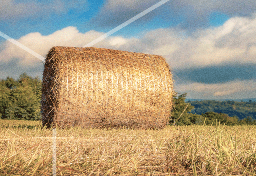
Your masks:
[[[30,33],[18,42],[45,56],[52,46],[81,47],[100,35],[102,33],[96,31],[80,33],[69,26],[48,36]],[[162,55],[171,68],[256,64],[256,16],[230,18],[220,27],[196,30],[189,36],[179,28],[156,29],[139,39],[110,36],[94,46]],[[34,60],[29,53],[8,41],[1,48],[4,48],[0,51],[3,61],[20,58],[21,63],[27,64]]]

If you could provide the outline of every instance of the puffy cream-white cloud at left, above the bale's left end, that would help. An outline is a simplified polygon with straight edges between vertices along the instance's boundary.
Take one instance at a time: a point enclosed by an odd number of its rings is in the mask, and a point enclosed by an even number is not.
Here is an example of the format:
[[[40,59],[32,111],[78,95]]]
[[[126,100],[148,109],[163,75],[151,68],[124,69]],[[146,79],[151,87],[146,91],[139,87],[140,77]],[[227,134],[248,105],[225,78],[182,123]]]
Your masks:
[[[89,31],[82,34],[75,27],[69,26],[48,36],[42,36],[38,32],[30,33],[26,36],[22,36],[20,39],[18,39],[18,42],[24,44],[38,54],[46,56],[50,48],[53,46],[81,47],[100,35],[102,35],[102,33],[96,31]],[[15,58],[19,58],[20,64],[34,66],[34,64],[38,61],[36,57],[9,41],[5,41],[1,48],[4,48],[0,51],[1,62],[7,63]]]

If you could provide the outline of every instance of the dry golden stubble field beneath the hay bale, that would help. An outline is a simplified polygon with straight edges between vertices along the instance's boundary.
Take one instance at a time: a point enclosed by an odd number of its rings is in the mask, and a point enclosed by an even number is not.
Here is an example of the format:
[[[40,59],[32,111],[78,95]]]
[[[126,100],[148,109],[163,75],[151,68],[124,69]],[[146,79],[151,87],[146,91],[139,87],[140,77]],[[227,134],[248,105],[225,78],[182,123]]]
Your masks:
[[[52,175],[52,130],[0,120],[0,175]],[[57,129],[57,175],[256,175],[256,126]]]

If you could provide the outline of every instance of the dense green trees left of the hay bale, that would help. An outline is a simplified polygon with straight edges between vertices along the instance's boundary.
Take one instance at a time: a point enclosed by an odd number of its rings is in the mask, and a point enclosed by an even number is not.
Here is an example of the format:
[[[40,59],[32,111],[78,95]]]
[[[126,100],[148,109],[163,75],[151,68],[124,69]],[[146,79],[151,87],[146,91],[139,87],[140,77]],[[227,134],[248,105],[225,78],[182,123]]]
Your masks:
[[[0,80],[0,118],[40,120],[41,89],[41,80],[25,73]]]

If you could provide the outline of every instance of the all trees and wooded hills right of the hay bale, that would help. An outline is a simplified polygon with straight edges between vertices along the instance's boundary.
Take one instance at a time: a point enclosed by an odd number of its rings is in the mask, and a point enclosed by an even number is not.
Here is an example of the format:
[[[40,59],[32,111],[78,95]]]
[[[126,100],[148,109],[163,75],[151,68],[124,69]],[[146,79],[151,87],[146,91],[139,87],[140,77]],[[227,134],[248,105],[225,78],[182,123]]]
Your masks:
[[[256,125],[256,102],[221,102],[215,100],[185,102],[185,99],[186,94],[176,94],[174,96],[174,109],[172,110],[170,124]],[[238,116],[244,118],[240,119]]]

